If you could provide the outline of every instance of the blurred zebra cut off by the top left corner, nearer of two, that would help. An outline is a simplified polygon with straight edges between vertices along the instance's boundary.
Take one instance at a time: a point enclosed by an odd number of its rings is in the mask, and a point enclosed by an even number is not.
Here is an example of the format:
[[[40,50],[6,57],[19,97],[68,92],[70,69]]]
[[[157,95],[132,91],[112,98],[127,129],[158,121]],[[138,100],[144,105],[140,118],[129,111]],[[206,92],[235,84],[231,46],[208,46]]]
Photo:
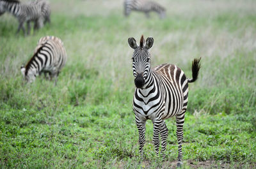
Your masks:
[[[24,22],[28,25],[28,34],[30,34],[30,22],[33,21],[38,25],[38,28],[43,26],[41,8],[38,5],[31,5],[29,3],[20,3],[18,0],[0,0],[4,11],[8,11],[14,15],[19,21],[19,27],[17,33],[20,29],[26,35],[24,28]],[[35,25],[36,25],[35,24]]]

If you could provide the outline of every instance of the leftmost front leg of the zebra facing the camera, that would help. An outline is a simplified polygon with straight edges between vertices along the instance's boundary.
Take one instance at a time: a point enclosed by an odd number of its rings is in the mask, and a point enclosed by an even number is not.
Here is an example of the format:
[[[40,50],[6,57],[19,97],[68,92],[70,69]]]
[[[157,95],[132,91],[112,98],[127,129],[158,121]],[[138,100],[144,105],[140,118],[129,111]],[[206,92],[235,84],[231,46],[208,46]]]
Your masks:
[[[139,131],[139,143],[140,143],[140,158],[143,159],[143,147],[145,145],[145,132],[146,132],[146,119],[140,119],[140,117],[135,117],[136,125]]]

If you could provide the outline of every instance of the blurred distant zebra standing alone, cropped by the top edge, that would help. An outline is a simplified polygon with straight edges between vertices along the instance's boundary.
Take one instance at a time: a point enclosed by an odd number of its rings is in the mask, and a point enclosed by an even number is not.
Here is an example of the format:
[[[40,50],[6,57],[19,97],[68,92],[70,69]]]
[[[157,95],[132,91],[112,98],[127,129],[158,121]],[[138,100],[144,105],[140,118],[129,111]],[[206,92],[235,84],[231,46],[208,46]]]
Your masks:
[[[125,0],[124,15],[130,15],[131,11],[143,11],[149,17],[150,11],[156,11],[160,18],[165,17],[165,9],[160,4],[148,0]]]

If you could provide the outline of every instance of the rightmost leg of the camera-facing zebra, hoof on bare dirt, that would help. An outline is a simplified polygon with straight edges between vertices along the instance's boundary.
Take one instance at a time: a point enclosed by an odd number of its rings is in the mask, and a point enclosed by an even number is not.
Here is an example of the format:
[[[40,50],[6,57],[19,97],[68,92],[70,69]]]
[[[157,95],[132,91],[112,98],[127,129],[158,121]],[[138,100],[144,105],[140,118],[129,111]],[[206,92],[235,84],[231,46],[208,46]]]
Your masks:
[[[178,140],[178,162],[177,167],[182,166],[182,140],[183,140],[183,124],[185,119],[185,112],[186,110],[182,110],[181,114],[176,115],[176,126],[177,126],[177,140]]]

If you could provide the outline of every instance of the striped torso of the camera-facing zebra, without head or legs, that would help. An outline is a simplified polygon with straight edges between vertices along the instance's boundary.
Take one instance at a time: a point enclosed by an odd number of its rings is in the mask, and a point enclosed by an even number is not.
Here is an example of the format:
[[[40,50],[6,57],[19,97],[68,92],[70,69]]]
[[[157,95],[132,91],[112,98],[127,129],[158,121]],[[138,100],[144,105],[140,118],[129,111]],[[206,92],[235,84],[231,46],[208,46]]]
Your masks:
[[[134,112],[152,119],[161,112],[160,119],[168,119],[186,110],[188,104],[188,80],[179,67],[162,64],[150,70],[147,89],[134,93]],[[154,98],[154,99],[152,99]],[[154,118],[153,117],[153,118]]]

